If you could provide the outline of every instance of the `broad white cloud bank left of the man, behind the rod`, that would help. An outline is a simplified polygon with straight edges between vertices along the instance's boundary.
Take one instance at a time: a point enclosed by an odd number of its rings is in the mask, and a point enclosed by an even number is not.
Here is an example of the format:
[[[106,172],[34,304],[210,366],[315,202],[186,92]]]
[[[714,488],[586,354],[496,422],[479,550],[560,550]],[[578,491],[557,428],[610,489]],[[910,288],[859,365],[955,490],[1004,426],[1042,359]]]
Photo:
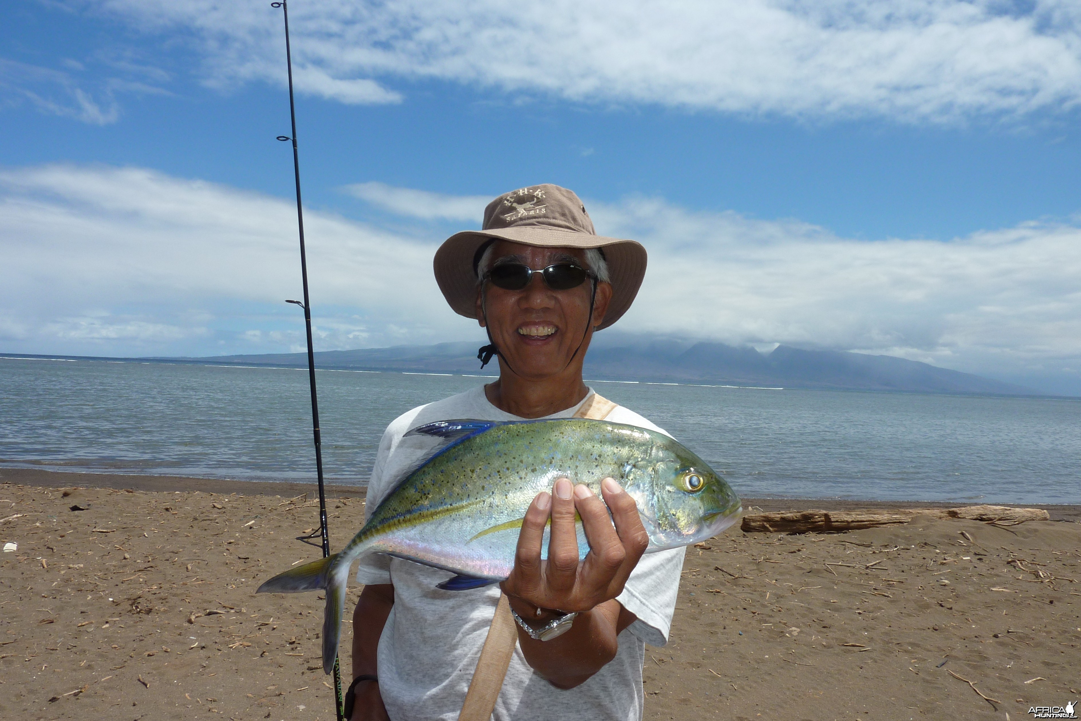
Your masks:
[[[455,316],[430,279],[432,244],[311,211],[305,230],[321,349],[390,345],[398,326],[443,339]],[[301,297],[298,255],[285,199],[138,168],[0,172],[0,343],[91,355],[303,345],[302,315],[283,303]]]

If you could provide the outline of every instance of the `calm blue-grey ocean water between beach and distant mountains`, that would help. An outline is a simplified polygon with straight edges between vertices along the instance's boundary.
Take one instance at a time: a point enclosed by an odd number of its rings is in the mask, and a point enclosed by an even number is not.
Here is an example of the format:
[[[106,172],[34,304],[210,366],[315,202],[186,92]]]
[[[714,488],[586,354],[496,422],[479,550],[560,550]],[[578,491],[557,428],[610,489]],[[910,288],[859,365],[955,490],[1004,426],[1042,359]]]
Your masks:
[[[484,377],[319,371],[329,482]],[[748,497],[1081,503],[1081,400],[591,383]],[[0,465],[315,480],[307,371],[0,358]]]

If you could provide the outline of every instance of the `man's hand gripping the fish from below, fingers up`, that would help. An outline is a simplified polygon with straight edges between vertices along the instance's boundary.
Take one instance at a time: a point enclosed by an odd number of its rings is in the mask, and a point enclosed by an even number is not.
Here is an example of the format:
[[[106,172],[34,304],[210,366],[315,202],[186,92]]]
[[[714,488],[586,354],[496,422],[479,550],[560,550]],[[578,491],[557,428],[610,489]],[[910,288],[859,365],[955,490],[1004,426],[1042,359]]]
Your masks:
[[[638,506],[613,479],[601,482],[604,503],[585,485],[556,480],[552,494],[533,499],[518,536],[515,568],[503,582],[511,599],[538,609],[589,611],[623,591],[624,584],[645,552],[649,536],[638,516]],[[612,521],[609,520],[609,509]],[[578,561],[575,510],[589,540],[589,553]],[[540,560],[545,525],[551,518],[548,560]],[[529,618],[526,618],[529,620]]]

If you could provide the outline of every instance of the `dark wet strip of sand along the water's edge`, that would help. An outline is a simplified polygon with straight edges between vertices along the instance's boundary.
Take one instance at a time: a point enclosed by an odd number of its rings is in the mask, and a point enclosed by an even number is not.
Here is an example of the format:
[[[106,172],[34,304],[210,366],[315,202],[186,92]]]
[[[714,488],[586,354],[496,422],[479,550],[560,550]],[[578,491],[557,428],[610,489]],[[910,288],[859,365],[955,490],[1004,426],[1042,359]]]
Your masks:
[[[94,473],[57,471],[39,468],[6,468],[0,466],[0,484],[40,488],[88,488],[132,490],[149,493],[202,492],[224,495],[263,495],[294,497],[310,493],[316,497],[315,481],[240,481],[232,479],[190,478],[186,476],[149,476],[128,473]],[[364,498],[368,486],[325,483],[328,498]],[[946,500],[859,500],[848,498],[743,498],[745,512],[780,512],[801,510],[854,510],[863,508],[960,508],[988,502]],[[1042,508],[1052,521],[1081,523],[1081,504],[992,504],[1011,508]]]

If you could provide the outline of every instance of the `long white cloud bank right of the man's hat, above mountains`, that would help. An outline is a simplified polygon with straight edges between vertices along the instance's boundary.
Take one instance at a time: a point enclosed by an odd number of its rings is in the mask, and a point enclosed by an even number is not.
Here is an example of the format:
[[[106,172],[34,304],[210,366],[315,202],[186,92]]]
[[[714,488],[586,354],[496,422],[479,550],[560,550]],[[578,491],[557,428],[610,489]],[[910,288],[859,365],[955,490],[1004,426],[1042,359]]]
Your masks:
[[[862,350],[1013,377],[1052,362],[1081,379],[1078,225],[857,241],[649,198],[595,202],[590,214],[605,235],[651,252],[624,330]]]

